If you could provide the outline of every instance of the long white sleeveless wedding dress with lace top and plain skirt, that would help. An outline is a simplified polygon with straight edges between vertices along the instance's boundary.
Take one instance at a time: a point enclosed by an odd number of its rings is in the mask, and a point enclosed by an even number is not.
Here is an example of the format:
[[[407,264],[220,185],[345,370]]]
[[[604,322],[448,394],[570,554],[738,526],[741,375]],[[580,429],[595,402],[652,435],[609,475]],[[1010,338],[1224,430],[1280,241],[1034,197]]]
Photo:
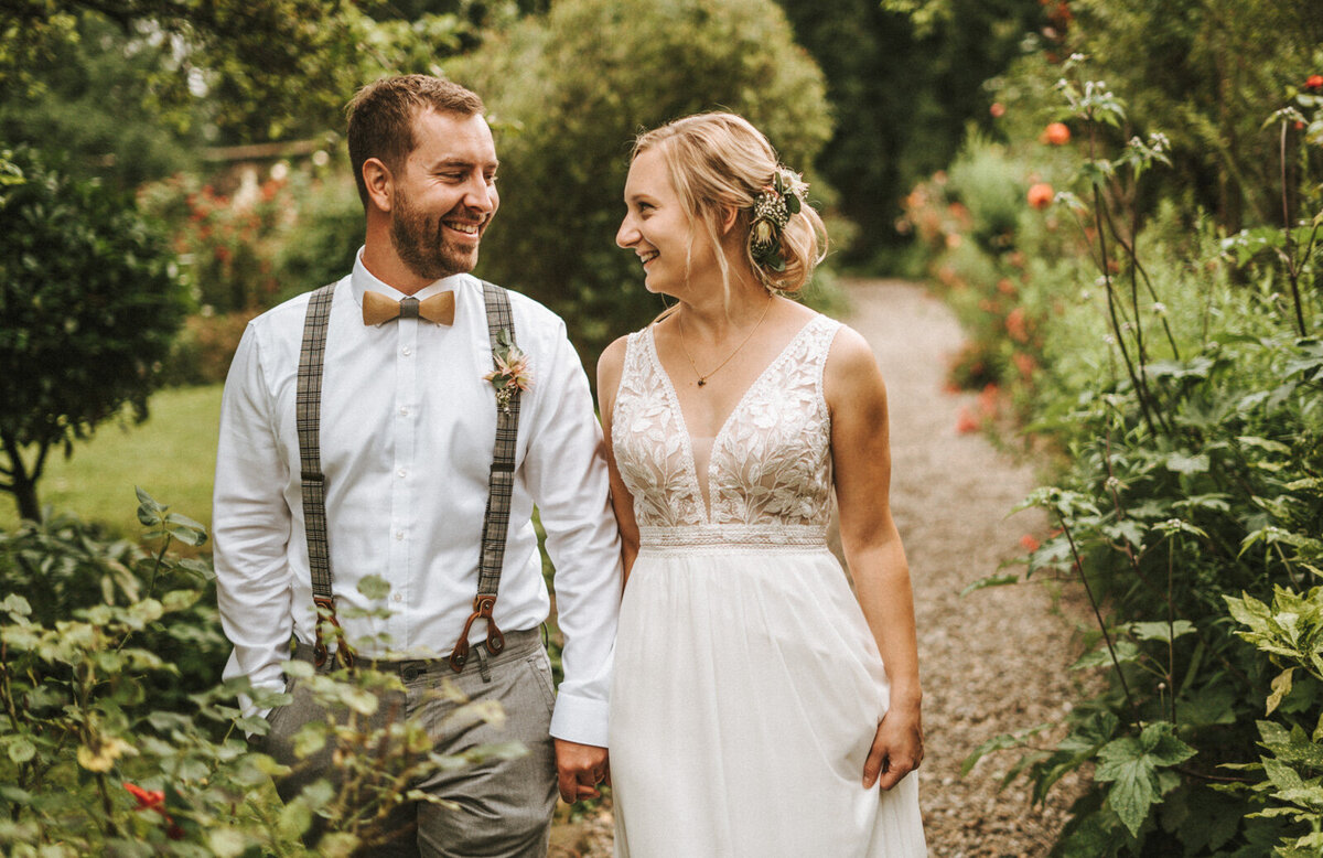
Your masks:
[[[640,535],[611,691],[619,857],[926,854],[917,773],[861,784],[888,690],[826,544],[839,327],[810,320],[710,441],[691,438],[651,330],[628,339],[611,421]]]

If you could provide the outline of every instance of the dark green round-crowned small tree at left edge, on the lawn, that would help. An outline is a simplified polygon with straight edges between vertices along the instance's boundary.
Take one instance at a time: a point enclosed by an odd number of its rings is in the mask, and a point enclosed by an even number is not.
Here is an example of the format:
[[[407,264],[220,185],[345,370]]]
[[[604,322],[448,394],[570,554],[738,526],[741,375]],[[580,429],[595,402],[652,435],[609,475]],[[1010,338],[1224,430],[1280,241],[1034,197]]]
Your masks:
[[[164,237],[131,199],[30,150],[0,200],[0,489],[38,519],[52,448],[116,414],[142,421],[184,318]]]

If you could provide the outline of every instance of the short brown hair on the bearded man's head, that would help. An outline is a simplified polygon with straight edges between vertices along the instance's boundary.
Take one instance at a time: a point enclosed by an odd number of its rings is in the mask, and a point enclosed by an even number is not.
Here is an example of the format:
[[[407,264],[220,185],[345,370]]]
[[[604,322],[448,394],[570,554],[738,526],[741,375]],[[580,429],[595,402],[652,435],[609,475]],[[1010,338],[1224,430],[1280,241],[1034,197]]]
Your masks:
[[[425,110],[474,117],[484,107],[476,93],[429,74],[381,78],[364,86],[349,102],[349,163],[364,208],[368,207],[364,162],[378,158],[392,172],[398,172],[417,146],[413,123]]]

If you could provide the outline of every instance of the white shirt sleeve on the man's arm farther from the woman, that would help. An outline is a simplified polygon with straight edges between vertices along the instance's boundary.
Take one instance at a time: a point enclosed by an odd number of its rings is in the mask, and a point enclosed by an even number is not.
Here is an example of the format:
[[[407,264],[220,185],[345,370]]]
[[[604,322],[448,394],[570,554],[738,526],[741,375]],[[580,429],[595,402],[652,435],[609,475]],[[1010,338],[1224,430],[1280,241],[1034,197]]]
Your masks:
[[[290,471],[271,401],[258,330],[249,324],[221,400],[212,499],[216,592],[221,624],[234,645],[225,678],[247,677],[255,687],[279,691],[294,625],[291,515],[284,499]]]

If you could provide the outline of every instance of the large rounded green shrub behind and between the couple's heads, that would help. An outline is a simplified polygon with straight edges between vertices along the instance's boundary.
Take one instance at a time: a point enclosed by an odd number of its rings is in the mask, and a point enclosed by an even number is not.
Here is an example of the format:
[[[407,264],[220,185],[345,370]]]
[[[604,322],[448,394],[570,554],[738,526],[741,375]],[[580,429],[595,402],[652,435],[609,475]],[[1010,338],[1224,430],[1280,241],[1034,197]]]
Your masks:
[[[726,109],[800,171],[831,135],[822,74],[771,0],[565,0],[447,73],[499,131],[501,211],[479,273],[560,312],[589,365],[662,310],[614,241],[635,135]]]

